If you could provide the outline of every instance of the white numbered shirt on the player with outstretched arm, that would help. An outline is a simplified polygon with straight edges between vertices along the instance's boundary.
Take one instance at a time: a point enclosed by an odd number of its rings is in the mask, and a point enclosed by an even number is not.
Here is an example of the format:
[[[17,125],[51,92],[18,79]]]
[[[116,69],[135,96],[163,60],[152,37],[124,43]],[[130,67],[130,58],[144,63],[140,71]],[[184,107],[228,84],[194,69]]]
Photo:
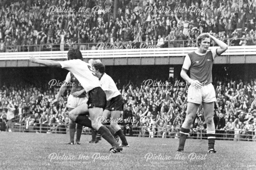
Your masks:
[[[74,74],[87,94],[95,87],[100,87],[100,81],[92,71],[90,64],[80,59],[59,61],[59,63],[63,69],[67,69]]]

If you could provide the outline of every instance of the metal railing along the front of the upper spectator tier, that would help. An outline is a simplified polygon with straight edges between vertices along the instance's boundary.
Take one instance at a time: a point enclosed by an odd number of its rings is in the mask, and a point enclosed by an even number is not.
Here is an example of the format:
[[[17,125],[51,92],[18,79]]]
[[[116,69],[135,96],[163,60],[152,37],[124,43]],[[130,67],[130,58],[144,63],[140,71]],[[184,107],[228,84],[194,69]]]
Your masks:
[[[223,39],[223,41],[229,41],[229,46],[232,46],[232,38]],[[244,39],[239,38],[238,40],[251,40],[252,44],[256,45],[254,38]],[[158,41],[123,41],[123,42],[97,42],[97,43],[75,43],[75,44],[38,44],[38,45],[14,45],[14,46],[4,46],[0,52],[33,52],[33,51],[68,51],[72,48],[78,48],[80,50],[103,50],[103,49],[132,49],[132,48],[182,48],[182,47],[196,47],[196,40],[171,40],[162,41],[163,44],[158,46]],[[193,42],[193,43],[192,43]],[[212,46],[216,46],[213,43]]]

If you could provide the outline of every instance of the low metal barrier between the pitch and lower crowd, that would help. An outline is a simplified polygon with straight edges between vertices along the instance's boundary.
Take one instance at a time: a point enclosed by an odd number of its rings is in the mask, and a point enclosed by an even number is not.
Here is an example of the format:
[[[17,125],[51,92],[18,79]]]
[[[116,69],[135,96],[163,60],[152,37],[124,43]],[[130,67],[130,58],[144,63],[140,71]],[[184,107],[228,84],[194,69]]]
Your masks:
[[[42,123],[13,123],[12,129],[14,132],[36,132],[36,133],[60,133],[66,134],[69,131],[66,124],[42,124]],[[155,131],[148,130],[148,127],[133,127],[133,136],[135,137],[150,137],[150,138],[179,138],[179,128],[154,128]],[[235,130],[217,130],[217,140],[237,140],[237,141],[255,141],[256,133],[254,131],[239,131],[238,135],[234,135]],[[91,134],[90,128],[83,128],[82,134]],[[207,139],[205,129],[191,130],[188,138],[191,139]]]

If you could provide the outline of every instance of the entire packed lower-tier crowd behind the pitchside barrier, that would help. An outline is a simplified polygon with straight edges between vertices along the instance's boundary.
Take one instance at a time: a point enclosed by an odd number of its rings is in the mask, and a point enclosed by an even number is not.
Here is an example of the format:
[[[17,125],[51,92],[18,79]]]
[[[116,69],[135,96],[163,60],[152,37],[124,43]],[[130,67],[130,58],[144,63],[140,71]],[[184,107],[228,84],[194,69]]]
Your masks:
[[[129,82],[126,86],[118,81],[125,108],[122,118],[127,122],[124,131],[130,135],[142,137],[179,137],[179,128],[186,117],[187,84],[176,80],[159,82],[158,86],[146,86]],[[171,86],[168,86],[172,84]],[[176,83],[178,84],[178,83]],[[214,80],[217,101],[215,103],[214,123],[217,137],[234,140],[255,140],[256,135],[256,79]],[[3,86],[0,88],[1,129],[5,130],[6,106],[8,103],[16,109],[17,122],[25,123],[26,129],[44,124],[43,131],[65,128],[68,124],[67,91],[57,104],[52,104],[56,90],[49,87],[37,88],[33,85]],[[84,130],[87,130],[86,128]],[[191,126],[190,136],[200,138],[206,132],[204,110],[199,107]]]

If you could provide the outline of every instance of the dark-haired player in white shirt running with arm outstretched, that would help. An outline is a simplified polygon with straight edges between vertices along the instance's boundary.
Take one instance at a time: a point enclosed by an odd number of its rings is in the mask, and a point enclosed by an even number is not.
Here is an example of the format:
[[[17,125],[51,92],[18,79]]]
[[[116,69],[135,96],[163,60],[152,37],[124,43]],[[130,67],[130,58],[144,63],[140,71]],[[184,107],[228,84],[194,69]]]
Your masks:
[[[100,87],[99,79],[92,71],[91,65],[82,61],[82,59],[83,57],[80,50],[70,49],[68,51],[67,61],[40,60],[35,59],[34,56],[31,56],[29,61],[50,67],[61,67],[72,72],[88,95],[87,105],[93,129],[97,130],[102,135],[102,138],[111,144],[111,153],[120,152],[123,150],[122,145],[119,145],[119,143],[116,142],[108,128],[104,127],[100,120],[97,119],[102,116],[103,108],[105,108],[106,105],[106,95]],[[83,104],[73,109],[71,113],[80,114],[86,111],[86,109],[86,105]],[[87,121],[87,116],[78,114],[71,114],[74,117],[70,116],[70,119],[83,125],[83,122]]]

